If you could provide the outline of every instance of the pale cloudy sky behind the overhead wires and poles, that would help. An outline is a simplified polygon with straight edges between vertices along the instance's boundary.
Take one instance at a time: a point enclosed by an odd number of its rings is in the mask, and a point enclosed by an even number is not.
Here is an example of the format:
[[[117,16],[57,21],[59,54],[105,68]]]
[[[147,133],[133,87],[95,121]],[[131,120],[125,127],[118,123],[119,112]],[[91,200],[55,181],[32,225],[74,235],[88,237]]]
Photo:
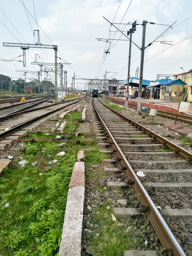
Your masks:
[[[22,3],[30,13],[26,14]],[[147,20],[172,25],[176,21],[173,28],[158,39],[158,41],[173,41],[170,42],[173,46],[154,42],[151,47],[146,48],[144,79],[155,80],[157,74],[182,73],[180,67],[185,71],[192,69],[191,0],[34,0],[34,5],[37,22],[40,25],[38,29],[41,44],[57,44],[58,56],[72,63],[71,66],[64,65],[69,84],[74,72],[77,77],[94,78],[102,76],[107,70],[117,72],[115,78],[126,79],[129,41],[112,40],[114,35],[114,39],[127,38],[116,32],[103,16],[115,23],[121,21],[132,23],[134,20],[142,23],[143,20]],[[35,35],[34,38],[32,32],[33,29],[37,29],[33,0],[0,0],[0,8],[0,59],[9,60],[21,55],[22,50],[18,47],[3,47],[3,42],[32,44],[37,42],[37,36]],[[130,25],[116,26],[125,31],[125,34],[131,28]],[[167,28],[168,26],[148,23],[145,46]],[[105,39],[98,41],[95,38],[106,38],[108,41],[111,40],[111,44],[106,44]],[[186,38],[188,39],[185,40]],[[132,40],[141,47],[141,25],[137,26]],[[103,55],[107,49],[110,54]],[[15,70],[38,71],[38,66],[31,65],[31,61],[35,60],[35,54],[39,54],[39,62],[54,62],[54,50],[29,49],[26,52],[25,68],[22,62],[0,61],[0,73],[16,78],[23,76]],[[17,59],[22,60],[22,57]],[[132,45],[131,76],[135,76],[139,66],[140,49]],[[108,73],[107,76],[112,75],[113,73]]]

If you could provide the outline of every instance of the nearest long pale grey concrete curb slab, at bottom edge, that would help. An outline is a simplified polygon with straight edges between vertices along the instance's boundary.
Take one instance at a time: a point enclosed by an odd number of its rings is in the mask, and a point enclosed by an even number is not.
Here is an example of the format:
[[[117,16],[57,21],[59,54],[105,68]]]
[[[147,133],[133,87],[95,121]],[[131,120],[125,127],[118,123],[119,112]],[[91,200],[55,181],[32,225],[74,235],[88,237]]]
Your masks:
[[[81,255],[84,186],[69,189],[59,256]]]

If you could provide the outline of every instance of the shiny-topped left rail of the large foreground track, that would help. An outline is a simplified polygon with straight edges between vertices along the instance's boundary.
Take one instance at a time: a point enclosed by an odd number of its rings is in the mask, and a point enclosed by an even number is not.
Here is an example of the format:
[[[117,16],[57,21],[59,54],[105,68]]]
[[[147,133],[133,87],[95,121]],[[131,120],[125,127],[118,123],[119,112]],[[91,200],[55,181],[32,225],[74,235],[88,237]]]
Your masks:
[[[163,217],[160,214],[160,212],[158,211],[157,207],[154,205],[154,203],[151,200],[150,196],[148,195],[147,191],[145,190],[145,188],[143,187],[139,178],[135,174],[133,168],[128,163],[128,160],[126,159],[125,155],[123,154],[121,148],[119,148],[119,145],[116,143],[116,140],[113,138],[113,135],[109,131],[107,125],[105,125],[105,122],[103,121],[102,117],[100,116],[99,112],[97,111],[93,100],[92,100],[92,104],[97,113],[97,116],[99,117],[100,121],[102,122],[105,132],[109,136],[108,139],[109,139],[114,151],[116,152],[117,160],[119,160],[120,163],[122,164],[122,166],[124,167],[125,173],[129,178],[128,183],[131,186],[133,186],[133,188],[136,192],[136,195],[142,204],[140,206],[140,209],[142,212],[147,213],[148,218],[151,221],[151,224],[152,224],[155,232],[157,233],[157,236],[158,236],[161,244],[164,247],[164,250],[166,248],[167,255],[169,255],[169,253],[171,253],[174,256],[185,256],[186,254],[180,247],[180,245],[179,245],[178,241],[176,240],[175,236],[173,235],[172,231],[169,229],[168,225],[166,224],[166,221],[163,219]],[[103,104],[103,105],[106,106],[105,104]],[[108,107],[108,106],[106,106],[106,107]],[[110,107],[108,107],[108,108],[111,109]],[[113,111],[113,112],[116,113],[116,111]]]

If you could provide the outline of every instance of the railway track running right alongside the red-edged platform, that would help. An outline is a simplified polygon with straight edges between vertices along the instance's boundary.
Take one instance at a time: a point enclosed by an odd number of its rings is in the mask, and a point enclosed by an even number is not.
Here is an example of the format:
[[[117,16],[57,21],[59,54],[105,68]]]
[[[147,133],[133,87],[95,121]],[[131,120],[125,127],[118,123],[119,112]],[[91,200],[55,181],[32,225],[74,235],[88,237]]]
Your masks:
[[[108,100],[110,102],[114,102],[116,104],[125,106],[125,102],[118,102],[114,99],[109,99],[109,98],[108,98]],[[128,108],[137,110],[137,107],[134,107],[134,106],[129,105],[129,104],[128,104]],[[148,113],[150,112],[150,108],[148,108],[147,112]],[[157,111],[157,116],[161,116],[161,117],[164,117],[164,118],[167,118],[167,119],[172,119],[174,121],[175,121],[176,115],[177,115],[177,113],[171,113],[171,112],[168,112],[168,111]],[[185,116],[185,115],[182,115],[182,114],[178,114],[177,115],[177,121],[192,125],[192,116]]]

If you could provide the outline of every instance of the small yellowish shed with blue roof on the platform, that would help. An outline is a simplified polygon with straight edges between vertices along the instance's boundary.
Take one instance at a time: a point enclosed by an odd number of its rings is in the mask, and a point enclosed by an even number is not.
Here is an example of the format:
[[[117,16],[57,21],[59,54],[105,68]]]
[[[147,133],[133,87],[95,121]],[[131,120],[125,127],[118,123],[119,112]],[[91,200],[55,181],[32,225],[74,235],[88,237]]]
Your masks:
[[[181,79],[174,79],[161,85],[160,98],[166,101],[182,101],[185,84]]]

